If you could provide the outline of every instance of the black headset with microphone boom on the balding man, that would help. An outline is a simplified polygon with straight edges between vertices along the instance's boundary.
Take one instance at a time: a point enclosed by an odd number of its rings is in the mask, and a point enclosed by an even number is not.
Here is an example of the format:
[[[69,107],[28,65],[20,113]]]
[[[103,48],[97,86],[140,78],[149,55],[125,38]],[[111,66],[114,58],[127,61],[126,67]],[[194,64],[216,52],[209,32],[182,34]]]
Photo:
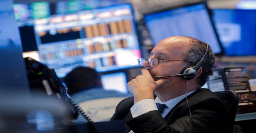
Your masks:
[[[199,69],[201,64],[204,62],[204,59],[206,58],[206,55],[208,55],[210,53],[211,47],[208,44],[206,44],[206,45],[207,45],[207,47],[206,47],[206,52],[204,53],[204,56],[202,57],[202,59],[195,66],[185,67],[181,71],[181,74],[170,75],[170,76],[157,76],[157,77],[154,77],[154,79],[167,78],[167,77],[183,77],[186,80],[190,80],[190,79],[195,78],[196,74],[197,74],[197,70]]]

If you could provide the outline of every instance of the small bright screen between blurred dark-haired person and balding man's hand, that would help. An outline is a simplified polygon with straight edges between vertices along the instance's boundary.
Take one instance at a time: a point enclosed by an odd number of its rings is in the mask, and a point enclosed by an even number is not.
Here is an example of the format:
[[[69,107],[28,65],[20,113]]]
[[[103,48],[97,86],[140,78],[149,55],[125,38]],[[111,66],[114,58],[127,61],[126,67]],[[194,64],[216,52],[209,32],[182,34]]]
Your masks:
[[[124,72],[101,75],[101,82],[105,90],[116,90],[128,93],[127,78]]]

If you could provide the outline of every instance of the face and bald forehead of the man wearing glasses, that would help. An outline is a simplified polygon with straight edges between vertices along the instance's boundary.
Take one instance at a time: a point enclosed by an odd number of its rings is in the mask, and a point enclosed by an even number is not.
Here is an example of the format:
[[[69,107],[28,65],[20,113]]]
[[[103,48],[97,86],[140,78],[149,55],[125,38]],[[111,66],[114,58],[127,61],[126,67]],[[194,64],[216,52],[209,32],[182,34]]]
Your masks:
[[[168,76],[180,74],[185,66],[183,53],[188,49],[189,39],[185,37],[171,37],[159,42],[151,51],[151,56],[148,59],[158,60],[179,60],[159,62],[157,67],[150,67],[148,62],[144,63],[144,67],[150,72],[152,77]],[[170,77],[170,83],[175,83],[182,78]]]

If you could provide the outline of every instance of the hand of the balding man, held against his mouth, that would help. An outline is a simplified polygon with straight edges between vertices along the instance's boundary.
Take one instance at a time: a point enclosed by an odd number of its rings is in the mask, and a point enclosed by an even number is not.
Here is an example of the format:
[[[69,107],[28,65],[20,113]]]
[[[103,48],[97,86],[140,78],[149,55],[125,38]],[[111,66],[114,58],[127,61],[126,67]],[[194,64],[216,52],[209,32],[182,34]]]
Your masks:
[[[169,79],[154,81],[147,69],[141,70],[142,75],[128,82],[128,90],[134,96],[134,103],[143,99],[154,99],[154,90],[169,82]]]

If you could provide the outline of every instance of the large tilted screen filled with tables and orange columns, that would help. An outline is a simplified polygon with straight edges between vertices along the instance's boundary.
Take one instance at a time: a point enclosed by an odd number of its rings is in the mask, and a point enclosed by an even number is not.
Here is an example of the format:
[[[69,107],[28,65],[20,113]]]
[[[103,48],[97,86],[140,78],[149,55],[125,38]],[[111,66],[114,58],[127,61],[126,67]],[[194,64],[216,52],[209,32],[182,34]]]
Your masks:
[[[40,61],[59,78],[78,66],[135,67],[141,57],[130,4],[34,19],[34,32]]]

